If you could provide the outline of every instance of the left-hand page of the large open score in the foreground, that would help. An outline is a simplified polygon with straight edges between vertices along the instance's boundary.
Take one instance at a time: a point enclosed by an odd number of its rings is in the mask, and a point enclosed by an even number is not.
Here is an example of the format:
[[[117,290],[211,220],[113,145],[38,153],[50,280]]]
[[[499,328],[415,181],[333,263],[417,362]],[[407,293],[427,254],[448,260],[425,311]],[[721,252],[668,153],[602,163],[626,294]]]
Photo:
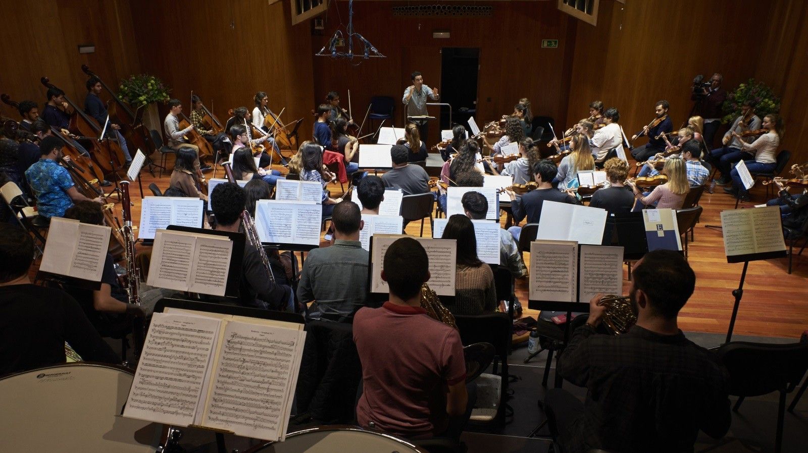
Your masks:
[[[168,425],[195,422],[205,363],[221,321],[155,312],[124,407],[124,417]]]

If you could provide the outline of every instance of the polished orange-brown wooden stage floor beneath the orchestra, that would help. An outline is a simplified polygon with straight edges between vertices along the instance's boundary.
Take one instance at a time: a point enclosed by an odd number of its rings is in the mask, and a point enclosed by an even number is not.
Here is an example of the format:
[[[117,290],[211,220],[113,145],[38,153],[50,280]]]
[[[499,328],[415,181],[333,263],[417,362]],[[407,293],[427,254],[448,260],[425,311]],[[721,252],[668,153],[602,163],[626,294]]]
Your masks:
[[[280,170],[285,173],[285,169]],[[210,178],[211,175],[208,173],[207,177]],[[164,172],[162,178],[158,178],[147,170],[141,171],[145,195],[151,195],[148,189],[151,182],[165,190],[169,184],[169,176],[170,172]],[[221,170],[217,171],[217,177],[223,177]],[[132,186],[133,219],[137,223],[140,219],[141,194],[137,181]],[[339,195],[339,183],[331,184],[330,191]],[[766,200],[764,186],[756,185],[751,194],[752,201],[741,203],[741,206],[751,207]],[[734,303],[732,291],[738,287],[743,263],[728,264],[721,230],[708,229],[705,225],[720,225],[720,212],[734,208],[735,200],[731,195],[725,194],[721,186],[717,186],[715,193],[705,192],[700,204],[704,207],[701,224],[696,226],[696,241],[689,245],[689,262],[696,271],[696,292],[680,313],[680,328],[686,331],[726,333]],[[120,216],[120,204],[116,204],[116,214]],[[504,216],[502,220],[504,224]],[[420,223],[412,222],[406,233],[418,235],[419,230]],[[424,236],[427,235],[431,236],[428,221],[424,227]],[[525,253],[524,256],[529,266],[529,254]],[[792,275],[788,275],[787,270],[787,258],[749,263],[734,333],[799,338],[808,329],[808,251],[802,256],[794,256]],[[630,286],[626,277],[624,269],[624,294]],[[527,292],[528,280],[517,280],[516,294],[525,308]],[[536,317],[537,312],[526,310],[526,315]]]

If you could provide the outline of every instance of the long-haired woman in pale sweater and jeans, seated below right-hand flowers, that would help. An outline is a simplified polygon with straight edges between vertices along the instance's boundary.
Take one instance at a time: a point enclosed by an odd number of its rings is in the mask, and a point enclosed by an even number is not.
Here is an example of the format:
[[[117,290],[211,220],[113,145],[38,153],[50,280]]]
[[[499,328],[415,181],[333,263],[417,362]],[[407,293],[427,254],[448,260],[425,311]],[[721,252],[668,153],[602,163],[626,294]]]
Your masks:
[[[768,129],[768,132],[759,136],[751,144],[744,142],[741,145],[743,151],[754,153],[754,160],[746,162],[747,169],[751,174],[772,171],[777,166],[777,148],[780,146],[783,132],[785,132],[782,117],[776,113],[764,116],[763,128]],[[738,132],[732,132],[732,136],[740,138]],[[724,191],[735,195],[742,201],[748,201],[750,199],[749,192],[743,187],[738,169],[732,169],[730,178],[732,178],[732,187],[724,187]]]

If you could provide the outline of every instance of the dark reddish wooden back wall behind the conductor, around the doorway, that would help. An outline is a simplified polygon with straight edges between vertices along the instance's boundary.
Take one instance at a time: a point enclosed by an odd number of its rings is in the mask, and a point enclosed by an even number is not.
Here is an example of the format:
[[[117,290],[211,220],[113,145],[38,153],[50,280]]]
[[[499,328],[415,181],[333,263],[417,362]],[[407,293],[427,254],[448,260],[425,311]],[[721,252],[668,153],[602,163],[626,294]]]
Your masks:
[[[319,103],[328,91],[337,90],[347,108],[350,89],[353,115],[360,121],[373,95],[393,96],[397,99],[396,124],[400,126],[404,106],[399,99],[410,86],[410,73],[419,70],[428,86],[440,87],[440,49],[478,47],[478,124],[510,114],[522,97],[531,100],[534,115],[566,115],[570,74],[565,60],[571,57],[573,43],[569,38],[574,34],[570,30],[578,25],[559,12],[554,2],[474,3],[493,6],[491,17],[393,16],[393,6],[412,4],[418,3],[355,2],[355,30],[387,58],[351,65],[330,57],[314,57],[315,101]],[[347,2],[330,6],[325,31],[312,40],[312,53],[327,44],[340,21],[347,24]],[[451,38],[434,39],[435,30],[448,30]],[[558,39],[559,48],[541,48],[541,39]],[[358,61],[361,59],[355,58],[354,63]],[[427,145],[437,140],[437,129],[430,128]]]

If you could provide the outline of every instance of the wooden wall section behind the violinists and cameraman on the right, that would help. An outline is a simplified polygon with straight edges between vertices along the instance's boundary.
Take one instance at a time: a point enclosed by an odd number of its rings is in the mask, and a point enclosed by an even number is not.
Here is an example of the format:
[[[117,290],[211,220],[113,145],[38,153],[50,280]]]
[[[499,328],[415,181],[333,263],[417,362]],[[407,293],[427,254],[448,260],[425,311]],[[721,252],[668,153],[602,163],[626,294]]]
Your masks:
[[[617,107],[630,137],[654,118],[654,103],[667,99],[678,127],[691,111],[696,74],[722,73],[730,89],[755,75],[763,48],[755,31],[777,26],[768,19],[754,0],[600,2],[598,26],[578,27],[567,124],[600,99]]]

